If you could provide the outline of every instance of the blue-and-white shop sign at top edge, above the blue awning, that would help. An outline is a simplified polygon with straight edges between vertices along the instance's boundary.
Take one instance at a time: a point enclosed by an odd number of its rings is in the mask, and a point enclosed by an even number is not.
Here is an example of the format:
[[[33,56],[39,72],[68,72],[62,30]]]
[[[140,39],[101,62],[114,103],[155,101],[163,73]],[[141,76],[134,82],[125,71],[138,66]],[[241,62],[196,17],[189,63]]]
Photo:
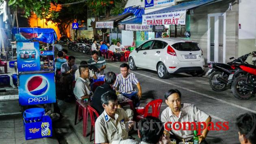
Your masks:
[[[174,5],[174,0],[145,0],[145,9]]]

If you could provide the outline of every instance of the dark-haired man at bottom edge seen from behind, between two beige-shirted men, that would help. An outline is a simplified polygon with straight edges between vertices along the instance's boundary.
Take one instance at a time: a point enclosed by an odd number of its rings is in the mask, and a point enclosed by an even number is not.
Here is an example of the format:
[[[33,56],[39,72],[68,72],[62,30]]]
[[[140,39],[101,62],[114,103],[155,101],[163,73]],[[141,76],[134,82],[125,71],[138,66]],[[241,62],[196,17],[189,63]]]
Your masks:
[[[148,127],[146,127],[146,125]],[[149,129],[150,127],[150,129]],[[169,144],[170,140],[164,132],[164,125],[158,118],[147,116],[139,121],[138,136],[141,142],[136,140],[114,140],[111,144]],[[151,129],[152,128],[152,129]]]

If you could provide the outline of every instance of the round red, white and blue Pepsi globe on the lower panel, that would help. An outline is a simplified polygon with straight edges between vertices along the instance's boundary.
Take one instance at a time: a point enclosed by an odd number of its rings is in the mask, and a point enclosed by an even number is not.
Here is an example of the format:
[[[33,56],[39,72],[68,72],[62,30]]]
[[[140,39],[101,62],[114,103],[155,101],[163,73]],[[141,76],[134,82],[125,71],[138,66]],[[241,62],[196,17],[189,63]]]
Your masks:
[[[28,80],[27,88],[32,95],[42,95],[48,88],[48,82],[41,76],[34,76]]]

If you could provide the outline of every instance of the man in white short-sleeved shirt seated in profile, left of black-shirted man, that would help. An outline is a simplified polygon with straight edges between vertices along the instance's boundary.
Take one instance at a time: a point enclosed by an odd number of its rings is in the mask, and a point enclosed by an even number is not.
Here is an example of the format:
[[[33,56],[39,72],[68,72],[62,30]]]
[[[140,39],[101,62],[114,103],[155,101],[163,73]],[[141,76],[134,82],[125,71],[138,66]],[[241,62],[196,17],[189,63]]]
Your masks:
[[[89,78],[89,68],[86,65],[79,66],[80,77],[76,80],[74,95],[76,99],[88,99],[90,95],[90,87],[86,80]]]

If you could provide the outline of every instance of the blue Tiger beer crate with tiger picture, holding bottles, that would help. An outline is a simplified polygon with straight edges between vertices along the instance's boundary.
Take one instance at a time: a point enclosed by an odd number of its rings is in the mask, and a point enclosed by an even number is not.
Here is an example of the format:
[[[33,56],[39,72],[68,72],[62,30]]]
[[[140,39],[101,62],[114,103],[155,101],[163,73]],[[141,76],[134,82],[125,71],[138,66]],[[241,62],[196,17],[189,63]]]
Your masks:
[[[26,140],[52,136],[52,120],[50,116],[24,118],[23,123]]]

